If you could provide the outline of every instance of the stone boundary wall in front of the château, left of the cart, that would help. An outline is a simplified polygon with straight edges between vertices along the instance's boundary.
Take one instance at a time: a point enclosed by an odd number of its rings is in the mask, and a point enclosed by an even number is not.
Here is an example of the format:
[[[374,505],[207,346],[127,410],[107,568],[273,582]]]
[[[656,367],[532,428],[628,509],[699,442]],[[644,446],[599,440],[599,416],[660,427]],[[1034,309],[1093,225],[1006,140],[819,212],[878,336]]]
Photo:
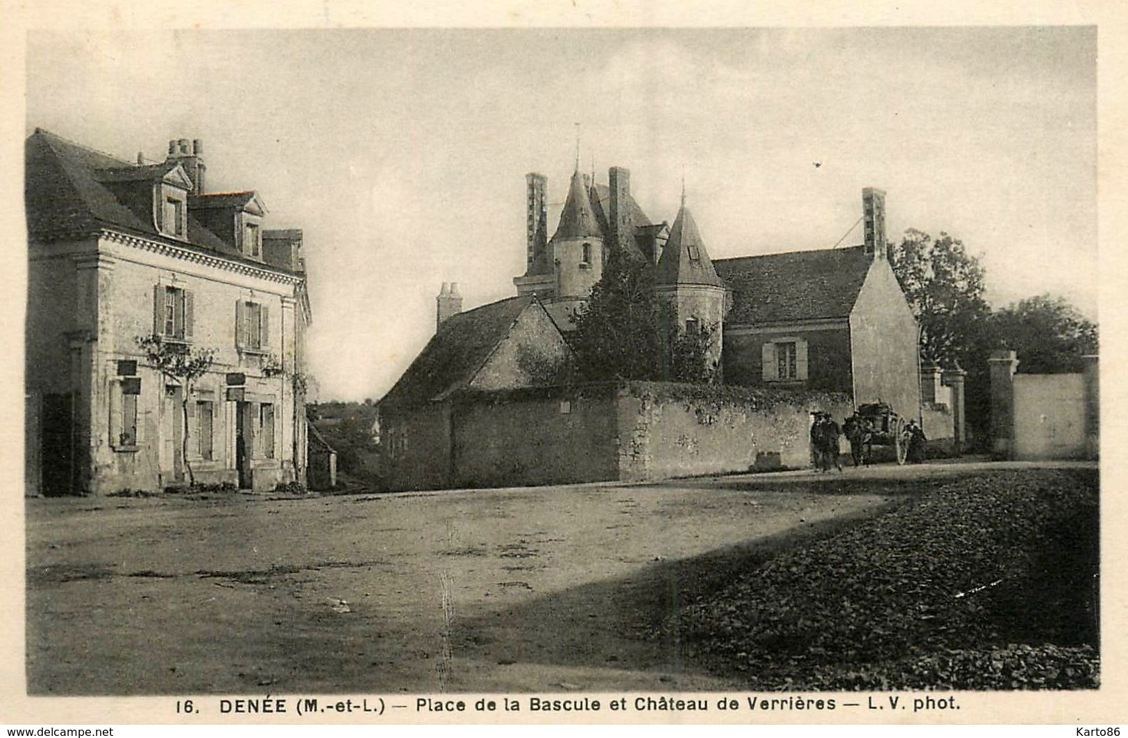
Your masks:
[[[518,487],[805,468],[834,392],[666,382],[467,391],[451,400],[450,487]],[[844,443],[845,446],[845,443]]]

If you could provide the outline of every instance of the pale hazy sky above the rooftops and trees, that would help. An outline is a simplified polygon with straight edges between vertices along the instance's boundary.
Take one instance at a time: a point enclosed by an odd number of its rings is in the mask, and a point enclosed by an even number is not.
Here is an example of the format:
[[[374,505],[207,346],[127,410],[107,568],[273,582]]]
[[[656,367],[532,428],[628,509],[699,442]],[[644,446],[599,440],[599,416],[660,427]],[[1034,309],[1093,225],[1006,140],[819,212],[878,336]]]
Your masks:
[[[201,139],[209,189],[301,228],[321,400],[390,389],[442,282],[515,294],[525,174],[554,228],[578,140],[655,222],[684,176],[713,258],[860,243],[874,186],[890,238],[961,239],[996,306],[1096,318],[1092,27],[33,32],[35,127],[126,160]]]

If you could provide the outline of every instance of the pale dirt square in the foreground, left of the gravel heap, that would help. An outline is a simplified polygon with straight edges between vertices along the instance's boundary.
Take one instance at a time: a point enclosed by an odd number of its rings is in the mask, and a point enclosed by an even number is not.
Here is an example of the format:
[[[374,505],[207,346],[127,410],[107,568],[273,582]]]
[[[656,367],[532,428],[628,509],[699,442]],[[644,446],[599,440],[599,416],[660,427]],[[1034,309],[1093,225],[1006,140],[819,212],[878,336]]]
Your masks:
[[[722,688],[652,624],[908,491],[732,483],[28,500],[28,688]]]

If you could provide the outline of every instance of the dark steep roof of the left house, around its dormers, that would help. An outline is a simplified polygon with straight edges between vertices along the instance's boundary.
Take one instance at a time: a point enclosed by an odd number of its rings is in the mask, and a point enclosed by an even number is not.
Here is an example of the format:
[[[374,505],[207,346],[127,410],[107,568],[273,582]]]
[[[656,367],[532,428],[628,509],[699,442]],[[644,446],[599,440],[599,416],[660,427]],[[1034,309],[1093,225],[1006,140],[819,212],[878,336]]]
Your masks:
[[[108,183],[127,183],[156,177],[176,162],[132,165],[36,128],[25,142],[24,204],[28,232],[42,239],[113,228],[125,233],[215,252],[233,261],[293,274],[290,269],[245,258],[204,228],[188,212],[188,242],[159,233],[147,211],[139,213],[114,195]],[[126,172],[138,170],[134,178]],[[243,193],[239,194],[240,197]],[[254,193],[249,193],[254,196]]]

